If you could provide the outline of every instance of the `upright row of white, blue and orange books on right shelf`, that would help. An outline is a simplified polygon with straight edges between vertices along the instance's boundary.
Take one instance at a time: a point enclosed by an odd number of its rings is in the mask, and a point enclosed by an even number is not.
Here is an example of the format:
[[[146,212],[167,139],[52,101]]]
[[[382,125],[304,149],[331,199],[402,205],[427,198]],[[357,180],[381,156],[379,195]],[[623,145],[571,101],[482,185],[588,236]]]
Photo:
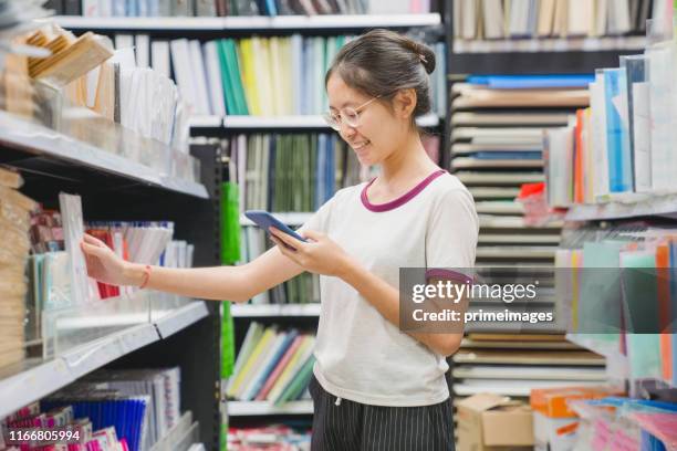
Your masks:
[[[597,70],[591,107],[548,134],[552,206],[633,201],[677,190],[675,41]]]

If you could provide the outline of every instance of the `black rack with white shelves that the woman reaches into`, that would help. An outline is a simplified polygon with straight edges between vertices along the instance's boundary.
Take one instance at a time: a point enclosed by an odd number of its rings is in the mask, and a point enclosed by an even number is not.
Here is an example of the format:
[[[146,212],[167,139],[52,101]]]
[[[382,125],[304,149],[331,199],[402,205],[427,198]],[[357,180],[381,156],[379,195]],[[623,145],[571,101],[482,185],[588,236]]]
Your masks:
[[[22,192],[45,208],[55,207],[61,191],[82,197],[87,220],[166,220],[175,239],[195,245],[197,266],[219,263],[220,168],[216,147],[198,147],[201,183],[158,176],[139,162],[97,148],[34,123],[0,112],[0,164],[21,170]],[[118,130],[128,138],[132,134]],[[138,144],[142,140],[131,139]],[[127,141],[126,141],[127,143]],[[128,150],[135,150],[131,145]],[[158,141],[153,150],[170,151]],[[140,150],[140,149],[137,149]],[[152,293],[152,292],[148,292]],[[154,301],[153,295],[148,295]],[[216,304],[196,302],[163,308],[143,324],[111,316],[115,332],[64,350],[50,360],[29,359],[0,375],[0,417],[77,380],[102,366],[111,368],[175,367],[181,371],[181,406],[199,422],[199,438],[216,449],[219,438],[220,318]],[[150,315],[150,311],[148,311]],[[82,321],[82,319],[80,319]],[[195,353],[200,349],[200,353]],[[211,389],[209,387],[212,387]]]

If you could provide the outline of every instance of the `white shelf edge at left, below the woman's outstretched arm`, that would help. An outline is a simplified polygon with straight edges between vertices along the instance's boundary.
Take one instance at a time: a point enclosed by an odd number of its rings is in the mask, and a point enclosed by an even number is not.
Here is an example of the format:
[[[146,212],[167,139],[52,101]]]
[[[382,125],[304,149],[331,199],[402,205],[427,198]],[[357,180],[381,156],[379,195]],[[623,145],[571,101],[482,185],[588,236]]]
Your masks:
[[[154,323],[138,324],[83,344],[49,361],[29,360],[0,374],[0,419],[82,376],[136,349],[188,327],[206,316],[204,302],[194,302]],[[128,318],[127,318],[128,319]]]

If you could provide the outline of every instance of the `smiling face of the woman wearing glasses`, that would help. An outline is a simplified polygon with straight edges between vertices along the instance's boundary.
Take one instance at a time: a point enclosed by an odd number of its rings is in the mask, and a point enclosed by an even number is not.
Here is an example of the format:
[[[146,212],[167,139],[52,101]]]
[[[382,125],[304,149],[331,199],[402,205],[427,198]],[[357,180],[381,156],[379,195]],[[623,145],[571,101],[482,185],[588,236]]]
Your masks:
[[[326,84],[330,111],[341,114],[345,107],[357,108],[372,98],[346,85],[334,74]],[[382,102],[375,101],[360,109],[360,120],[356,127],[341,125],[341,137],[355,151],[361,164],[371,166],[382,164],[397,148],[406,135],[406,126],[393,111]]]

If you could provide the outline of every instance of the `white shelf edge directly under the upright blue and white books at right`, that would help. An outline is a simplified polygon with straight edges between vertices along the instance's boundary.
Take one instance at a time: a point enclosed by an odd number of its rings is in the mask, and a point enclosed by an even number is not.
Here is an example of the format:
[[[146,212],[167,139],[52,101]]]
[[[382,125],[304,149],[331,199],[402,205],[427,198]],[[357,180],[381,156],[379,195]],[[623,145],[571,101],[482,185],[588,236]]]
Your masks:
[[[625,196],[600,204],[574,204],[566,213],[567,221],[598,221],[645,216],[677,216],[677,195]]]

